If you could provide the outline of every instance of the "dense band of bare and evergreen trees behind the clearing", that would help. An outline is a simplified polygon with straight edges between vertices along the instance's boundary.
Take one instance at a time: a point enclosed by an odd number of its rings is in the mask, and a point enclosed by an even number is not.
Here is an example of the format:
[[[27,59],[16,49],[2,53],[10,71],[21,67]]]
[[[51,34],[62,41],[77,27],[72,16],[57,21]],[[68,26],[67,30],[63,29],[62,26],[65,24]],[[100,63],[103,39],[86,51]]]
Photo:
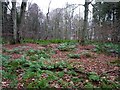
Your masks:
[[[24,1],[24,0],[23,0]],[[66,4],[43,14],[36,3],[22,2],[16,7],[8,8],[11,2],[2,2],[2,36],[11,43],[20,39],[77,39],[96,41],[120,41],[120,3],[119,2],[86,2],[84,18],[74,10],[81,4]],[[89,5],[93,12],[89,11]],[[8,14],[8,12],[10,12]],[[88,14],[92,19],[88,20]]]

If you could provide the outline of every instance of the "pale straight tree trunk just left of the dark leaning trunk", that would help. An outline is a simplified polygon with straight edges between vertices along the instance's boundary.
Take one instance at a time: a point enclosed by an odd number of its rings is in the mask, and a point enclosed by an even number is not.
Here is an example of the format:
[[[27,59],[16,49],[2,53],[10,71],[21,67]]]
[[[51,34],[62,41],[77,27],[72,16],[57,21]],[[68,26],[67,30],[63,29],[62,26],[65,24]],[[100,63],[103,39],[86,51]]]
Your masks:
[[[13,20],[13,38],[14,44],[17,42],[17,18],[16,18],[16,1],[12,2],[12,20]]]

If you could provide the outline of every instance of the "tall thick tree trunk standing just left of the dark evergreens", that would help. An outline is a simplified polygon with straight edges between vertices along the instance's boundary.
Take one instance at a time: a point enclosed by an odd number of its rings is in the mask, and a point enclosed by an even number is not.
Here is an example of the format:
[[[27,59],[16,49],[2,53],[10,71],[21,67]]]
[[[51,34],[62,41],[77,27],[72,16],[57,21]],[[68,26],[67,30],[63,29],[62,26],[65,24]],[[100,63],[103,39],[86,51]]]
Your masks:
[[[85,44],[85,39],[86,39],[86,31],[87,31],[87,21],[88,21],[88,5],[89,2],[88,0],[85,0],[85,11],[84,11],[84,25],[83,25],[83,30],[82,30],[82,38],[81,38],[81,45]]]

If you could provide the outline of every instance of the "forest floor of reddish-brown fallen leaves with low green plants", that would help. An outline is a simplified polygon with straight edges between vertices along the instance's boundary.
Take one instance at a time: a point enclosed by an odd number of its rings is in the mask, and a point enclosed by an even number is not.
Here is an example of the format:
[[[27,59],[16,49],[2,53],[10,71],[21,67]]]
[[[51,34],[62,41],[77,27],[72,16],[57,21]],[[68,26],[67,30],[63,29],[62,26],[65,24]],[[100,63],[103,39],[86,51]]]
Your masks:
[[[94,45],[3,45],[3,88],[120,88],[119,61]]]

